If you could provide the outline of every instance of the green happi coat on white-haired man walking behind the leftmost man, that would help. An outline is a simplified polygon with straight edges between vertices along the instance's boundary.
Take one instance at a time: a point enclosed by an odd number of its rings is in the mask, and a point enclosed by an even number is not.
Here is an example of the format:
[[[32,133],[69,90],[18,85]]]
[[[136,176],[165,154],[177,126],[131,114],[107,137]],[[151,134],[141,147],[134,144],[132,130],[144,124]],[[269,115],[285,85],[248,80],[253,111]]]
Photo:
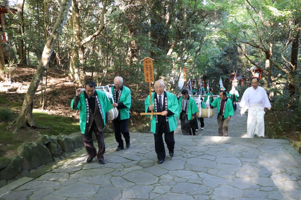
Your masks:
[[[122,92],[120,95],[120,100],[119,103],[123,103],[124,104],[124,108],[118,109],[119,110],[119,116],[120,116],[120,120],[123,119],[129,119],[130,118],[130,113],[129,110],[131,108],[131,90],[129,88],[127,88],[126,86],[122,85]],[[112,94],[113,94],[113,98],[114,98],[114,87],[112,87]],[[118,97],[118,94],[116,94],[116,99]],[[112,99],[110,99],[111,104],[113,104]],[[115,102],[117,103],[117,102]],[[117,107],[118,108],[118,107]],[[118,118],[119,118],[118,116]]]

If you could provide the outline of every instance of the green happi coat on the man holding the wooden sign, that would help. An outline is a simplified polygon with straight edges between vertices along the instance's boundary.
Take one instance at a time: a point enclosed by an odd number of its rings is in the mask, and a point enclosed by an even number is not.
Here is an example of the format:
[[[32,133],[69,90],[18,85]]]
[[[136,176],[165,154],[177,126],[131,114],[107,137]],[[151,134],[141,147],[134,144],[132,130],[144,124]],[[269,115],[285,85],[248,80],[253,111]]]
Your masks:
[[[156,95],[156,92],[151,94],[151,100],[152,104],[154,105],[154,96]],[[177,128],[177,117],[178,116],[178,99],[174,94],[170,92],[164,91],[164,97],[167,96],[167,110],[170,110],[173,115],[168,116],[168,124],[169,124],[169,130],[174,131]],[[163,101],[163,100],[162,100]],[[148,107],[151,105],[150,96],[148,95],[146,100],[144,101],[145,104],[145,112],[147,112]],[[154,107],[155,112],[155,107]],[[147,115],[147,117],[150,117],[151,115]],[[153,119],[151,120],[151,132],[156,134],[156,118],[153,116]]]

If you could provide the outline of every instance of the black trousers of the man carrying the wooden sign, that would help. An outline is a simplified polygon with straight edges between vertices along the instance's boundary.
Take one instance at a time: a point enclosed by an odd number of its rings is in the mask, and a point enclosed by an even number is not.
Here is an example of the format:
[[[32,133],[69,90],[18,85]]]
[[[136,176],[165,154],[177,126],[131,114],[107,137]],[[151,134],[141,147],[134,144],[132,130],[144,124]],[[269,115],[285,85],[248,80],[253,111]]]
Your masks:
[[[162,127],[158,128],[158,134],[154,134],[155,140],[155,151],[157,153],[158,160],[164,160],[166,157],[165,147],[163,142],[163,133],[164,141],[166,143],[168,151],[174,150],[174,131],[167,133],[166,124],[161,123]]]

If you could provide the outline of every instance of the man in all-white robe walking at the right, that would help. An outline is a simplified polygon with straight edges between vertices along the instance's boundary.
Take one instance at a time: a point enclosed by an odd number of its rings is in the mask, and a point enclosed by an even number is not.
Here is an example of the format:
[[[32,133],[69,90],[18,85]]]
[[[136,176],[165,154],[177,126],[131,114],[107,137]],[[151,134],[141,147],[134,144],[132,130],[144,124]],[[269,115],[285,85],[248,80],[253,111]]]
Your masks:
[[[264,114],[271,108],[267,92],[264,88],[258,86],[258,78],[252,78],[252,87],[244,91],[244,95],[240,100],[241,111],[248,111],[247,135],[248,138],[253,138],[254,135],[264,137]]]

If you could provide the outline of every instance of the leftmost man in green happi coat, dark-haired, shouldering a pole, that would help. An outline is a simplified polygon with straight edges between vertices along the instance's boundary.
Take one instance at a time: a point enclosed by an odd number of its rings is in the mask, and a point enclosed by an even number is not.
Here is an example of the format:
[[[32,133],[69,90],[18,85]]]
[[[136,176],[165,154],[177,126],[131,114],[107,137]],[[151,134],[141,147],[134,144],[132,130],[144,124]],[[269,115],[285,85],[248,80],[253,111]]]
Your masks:
[[[104,164],[104,128],[108,120],[108,111],[112,105],[107,95],[101,90],[95,90],[95,82],[87,81],[84,89],[76,89],[71,101],[73,110],[80,110],[80,130],[83,134],[84,146],[88,153],[87,163],[96,156],[100,164]],[[98,152],[93,146],[92,131],[98,143]]]

